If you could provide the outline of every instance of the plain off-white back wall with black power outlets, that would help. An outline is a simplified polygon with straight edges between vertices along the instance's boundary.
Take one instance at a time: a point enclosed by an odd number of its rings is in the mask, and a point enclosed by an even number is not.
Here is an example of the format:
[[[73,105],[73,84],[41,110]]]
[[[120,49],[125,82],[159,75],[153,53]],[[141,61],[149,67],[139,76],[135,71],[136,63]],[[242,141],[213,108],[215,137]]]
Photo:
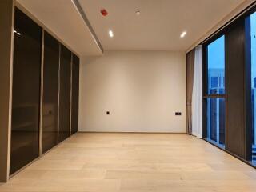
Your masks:
[[[170,51],[108,51],[82,58],[79,130],[185,133],[185,57]]]

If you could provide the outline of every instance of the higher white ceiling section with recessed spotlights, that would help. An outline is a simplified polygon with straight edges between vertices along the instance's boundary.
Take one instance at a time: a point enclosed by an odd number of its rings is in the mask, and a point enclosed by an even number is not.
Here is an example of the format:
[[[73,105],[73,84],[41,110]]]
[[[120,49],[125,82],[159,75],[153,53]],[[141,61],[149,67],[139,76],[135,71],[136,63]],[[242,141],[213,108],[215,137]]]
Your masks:
[[[244,0],[79,2],[104,50],[186,50]],[[107,17],[100,14],[102,8],[109,12]],[[108,30],[114,31],[114,38]],[[184,30],[187,35],[181,39]]]

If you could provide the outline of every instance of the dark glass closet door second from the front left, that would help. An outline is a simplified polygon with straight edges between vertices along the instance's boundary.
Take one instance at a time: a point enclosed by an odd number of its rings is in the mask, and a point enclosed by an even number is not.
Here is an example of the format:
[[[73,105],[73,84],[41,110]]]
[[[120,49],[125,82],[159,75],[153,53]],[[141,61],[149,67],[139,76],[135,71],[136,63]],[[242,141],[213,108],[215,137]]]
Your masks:
[[[42,153],[58,144],[59,43],[45,32],[42,106]]]

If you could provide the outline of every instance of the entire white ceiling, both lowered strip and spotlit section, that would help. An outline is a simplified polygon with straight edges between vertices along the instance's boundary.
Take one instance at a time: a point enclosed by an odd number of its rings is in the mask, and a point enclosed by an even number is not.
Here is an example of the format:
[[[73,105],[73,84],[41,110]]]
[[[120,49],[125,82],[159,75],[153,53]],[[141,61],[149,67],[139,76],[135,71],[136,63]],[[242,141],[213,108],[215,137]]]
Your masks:
[[[251,0],[78,0],[104,50],[182,51],[246,1]],[[18,3],[80,56],[102,54],[71,0]],[[100,14],[102,8],[107,17]],[[187,35],[180,38],[184,30]]]

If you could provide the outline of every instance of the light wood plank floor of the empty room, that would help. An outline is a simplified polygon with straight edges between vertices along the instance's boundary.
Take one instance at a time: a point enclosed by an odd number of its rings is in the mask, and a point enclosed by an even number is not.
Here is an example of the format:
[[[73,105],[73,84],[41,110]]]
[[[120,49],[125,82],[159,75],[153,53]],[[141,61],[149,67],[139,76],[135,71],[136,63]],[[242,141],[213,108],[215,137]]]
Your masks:
[[[256,191],[256,170],[186,134],[75,134],[0,191]]]

